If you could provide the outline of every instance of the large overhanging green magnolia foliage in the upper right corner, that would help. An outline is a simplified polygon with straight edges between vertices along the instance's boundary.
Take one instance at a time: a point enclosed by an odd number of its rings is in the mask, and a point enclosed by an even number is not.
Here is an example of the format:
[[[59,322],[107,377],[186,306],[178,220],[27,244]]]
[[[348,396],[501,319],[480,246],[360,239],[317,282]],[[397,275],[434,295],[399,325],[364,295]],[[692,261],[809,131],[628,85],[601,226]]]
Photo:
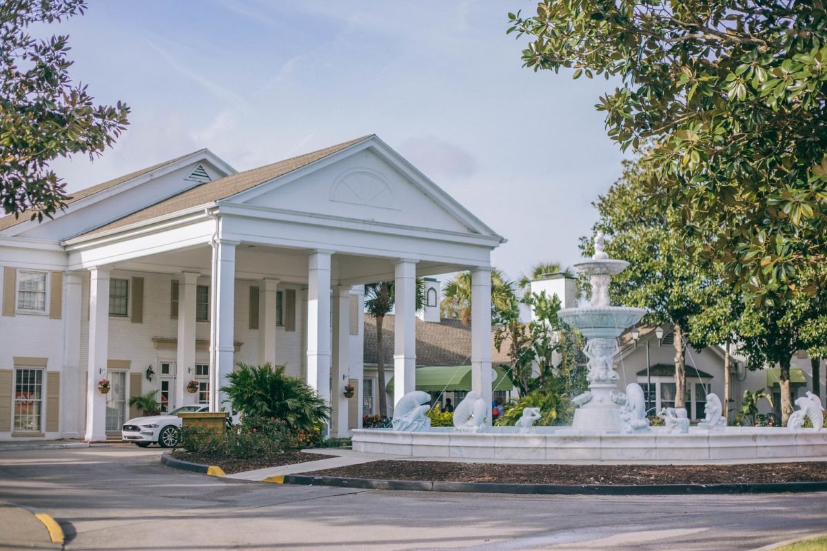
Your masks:
[[[535,71],[615,77],[600,97],[622,149],[653,142],[648,205],[771,302],[822,292],[796,272],[827,256],[823,2],[543,0],[509,14]]]

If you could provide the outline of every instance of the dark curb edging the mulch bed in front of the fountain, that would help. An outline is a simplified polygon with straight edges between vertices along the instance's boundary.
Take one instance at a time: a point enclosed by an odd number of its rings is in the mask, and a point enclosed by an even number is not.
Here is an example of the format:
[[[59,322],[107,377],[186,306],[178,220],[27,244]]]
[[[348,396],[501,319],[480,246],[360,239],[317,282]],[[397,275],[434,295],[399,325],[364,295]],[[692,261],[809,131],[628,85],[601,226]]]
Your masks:
[[[279,477],[272,477],[279,478]],[[480,492],[509,494],[586,494],[590,496],[673,496],[686,494],[737,494],[782,492],[827,492],[827,482],[767,482],[755,484],[520,484],[504,482],[427,482],[419,480],[376,480],[371,478],[308,477],[285,475],[282,481],[303,486],[332,486],[370,490],[414,492]]]

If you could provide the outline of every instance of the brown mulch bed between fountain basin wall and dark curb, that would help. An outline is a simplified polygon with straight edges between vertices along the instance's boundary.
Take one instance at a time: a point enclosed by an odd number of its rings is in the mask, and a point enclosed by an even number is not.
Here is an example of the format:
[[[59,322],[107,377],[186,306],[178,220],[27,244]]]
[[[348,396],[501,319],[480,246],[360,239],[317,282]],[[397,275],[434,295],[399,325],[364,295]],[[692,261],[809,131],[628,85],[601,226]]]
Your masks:
[[[533,484],[825,482],[827,481],[827,462],[743,465],[526,465],[374,461],[302,474],[304,476],[380,480]]]

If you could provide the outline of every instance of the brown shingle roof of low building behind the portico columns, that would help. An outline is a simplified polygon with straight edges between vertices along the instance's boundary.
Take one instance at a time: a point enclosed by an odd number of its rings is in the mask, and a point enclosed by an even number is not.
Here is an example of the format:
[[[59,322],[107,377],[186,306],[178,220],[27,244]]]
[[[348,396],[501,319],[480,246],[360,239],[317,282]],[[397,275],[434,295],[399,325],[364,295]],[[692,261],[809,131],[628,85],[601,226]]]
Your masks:
[[[393,315],[385,316],[382,324],[385,365],[394,363]],[[492,342],[492,360],[495,365],[509,363],[503,351],[497,352]],[[379,359],[376,350],[376,319],[365,316],[365,363],[375,364]],[[417,365],[467,365],[471,363],[471,325],[460,320],[442,318],[439,323],[416,319],[416,363]]]

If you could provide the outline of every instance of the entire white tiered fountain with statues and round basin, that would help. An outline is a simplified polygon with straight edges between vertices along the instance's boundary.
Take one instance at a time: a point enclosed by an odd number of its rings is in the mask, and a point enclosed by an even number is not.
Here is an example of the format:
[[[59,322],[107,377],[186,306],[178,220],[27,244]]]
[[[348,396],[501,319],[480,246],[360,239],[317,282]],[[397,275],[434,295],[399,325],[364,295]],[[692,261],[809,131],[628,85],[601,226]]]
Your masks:
[[[715,463],[743,460],[817,460],[827,456],[827,430],[822,430],[821,405],[809,392],[796,400],[800,411],[788,428],[726,426],[720,400],[706,397],[706,416],[697,426],[683,408],[658,413],[666,426],[650,427],[643,389],[629,383],[617,388],[614,357],[617,339],[646,313],[641,308],[611,306],[609,281],[629,265],[609,259],[604,236],[595,237],[595,254],[575,264],[590,277],[589,306],[557,312],[562,321],[586,337],[589,390],[574,397],[571,426],[538,426],[538,408],[525,408],[516,426],[490,426],[490,404],[469,392],[454,411],[454,427],[431,427],[424,415],[428,395],[411,392],[394,410],[394,428],[353,431],[355,451],[401,456],[497,460],[538,463]],[[803,428],[805,419],[813,425]]]

